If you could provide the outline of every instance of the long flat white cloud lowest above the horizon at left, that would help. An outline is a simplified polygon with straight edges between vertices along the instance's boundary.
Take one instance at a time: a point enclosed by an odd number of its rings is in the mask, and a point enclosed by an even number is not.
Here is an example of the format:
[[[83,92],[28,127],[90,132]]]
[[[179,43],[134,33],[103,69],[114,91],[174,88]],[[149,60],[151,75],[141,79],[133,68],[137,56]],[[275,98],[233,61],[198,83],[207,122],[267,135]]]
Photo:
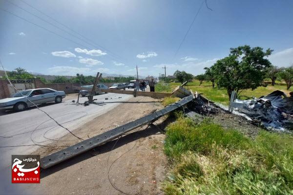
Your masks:
[[[48,68],[47,72],[50,75],[76,76],[77,73],[80,73],[83,75],[96,75],[97,72],[109,73],[110,70],[108,68],[91,69],[91,68],[79,68],[79,67],[72,67],[72,66],[53,66]]]

